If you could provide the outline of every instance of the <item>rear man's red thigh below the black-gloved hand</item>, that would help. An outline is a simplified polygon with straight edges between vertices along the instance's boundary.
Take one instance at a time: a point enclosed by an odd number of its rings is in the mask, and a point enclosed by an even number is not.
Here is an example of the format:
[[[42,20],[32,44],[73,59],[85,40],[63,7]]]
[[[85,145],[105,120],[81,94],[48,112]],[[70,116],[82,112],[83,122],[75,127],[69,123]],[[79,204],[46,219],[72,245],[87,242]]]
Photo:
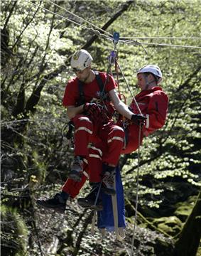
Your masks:
[[[127,127],[128,132],[128,144],[126,145],[126,149],[121,150],[121,154],[129,154],[133,151],[136,151],[138,149],[138,135],[139,135],[139,126],[136,124],[129,124],[129,127]],[[141,138],[140,138],[140,144],[142,143],[143,140],[143,134],[141,131]]]

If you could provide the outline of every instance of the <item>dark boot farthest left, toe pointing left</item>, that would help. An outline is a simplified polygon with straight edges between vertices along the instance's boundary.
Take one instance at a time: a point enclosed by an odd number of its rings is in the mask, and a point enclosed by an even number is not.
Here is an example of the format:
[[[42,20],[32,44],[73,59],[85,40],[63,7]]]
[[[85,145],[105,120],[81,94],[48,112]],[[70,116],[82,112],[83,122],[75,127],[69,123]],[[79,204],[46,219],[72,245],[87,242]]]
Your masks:
[[[65,213],[65,205],[66,201],[60,196],[60,193],[55,194],[53,198],[36,201],[38,206],[42,206],[43,208],[53,209],[58,213]]]

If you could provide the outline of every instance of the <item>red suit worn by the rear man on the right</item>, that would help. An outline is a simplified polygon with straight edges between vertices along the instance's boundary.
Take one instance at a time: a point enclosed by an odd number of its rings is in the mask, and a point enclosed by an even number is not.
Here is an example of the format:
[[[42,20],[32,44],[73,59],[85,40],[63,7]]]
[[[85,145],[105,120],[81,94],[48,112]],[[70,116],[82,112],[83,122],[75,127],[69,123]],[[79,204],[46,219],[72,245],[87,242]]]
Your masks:
[[[138,93],[138,95],[136,95],[135,99],[142,114],[146,114],[147,117],[146,125],[143,126],[141,133],[142,142],[143,137],[155,132],[165,124],[165,119],[168,112],[168,96],[165,94],[165,92],[163,92],[161,87],[153,87],[151,90],[141,91]],[[134,100],[131,102],[130,107],[135,114],[138,114]],[[139,126],[136,124],[129,124],[126,129],[128,132],[128,144],[126,145],[126,149],[121,150],[121,154],[129,154],[138,148]],[[85,168],[87,170],[87,166]],[[77,194],[80,192],[80,189],[82,188],[86,179],[87,177],[85,175],[82,176],[81,182],[67,179],[65,185],[63,186],[63,191],[69,193],[72,198],[75,198],[75,196],[77,196]]]

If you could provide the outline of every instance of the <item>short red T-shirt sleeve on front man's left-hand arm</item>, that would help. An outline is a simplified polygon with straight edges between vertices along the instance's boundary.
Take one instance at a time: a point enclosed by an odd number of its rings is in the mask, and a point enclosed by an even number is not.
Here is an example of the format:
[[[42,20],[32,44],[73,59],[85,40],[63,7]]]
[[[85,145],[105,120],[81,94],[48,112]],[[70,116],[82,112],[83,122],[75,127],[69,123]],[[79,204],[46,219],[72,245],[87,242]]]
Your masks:
[[[65,87],[65,93],[63,96],[63,105],[65,107],[76,105],[78,94],[77,90],[76,80],[70,80]]]

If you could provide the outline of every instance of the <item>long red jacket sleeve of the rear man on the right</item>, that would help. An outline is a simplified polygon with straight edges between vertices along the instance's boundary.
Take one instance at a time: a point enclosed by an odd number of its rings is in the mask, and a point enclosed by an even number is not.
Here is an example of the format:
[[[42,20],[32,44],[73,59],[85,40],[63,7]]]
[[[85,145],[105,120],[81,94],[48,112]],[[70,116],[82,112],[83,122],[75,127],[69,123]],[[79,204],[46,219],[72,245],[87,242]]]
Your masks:
[[[146,127],[144,129],[151,133],[163,127],[167,113],[168,96],[163,91],[153,94],[148,103]]]

